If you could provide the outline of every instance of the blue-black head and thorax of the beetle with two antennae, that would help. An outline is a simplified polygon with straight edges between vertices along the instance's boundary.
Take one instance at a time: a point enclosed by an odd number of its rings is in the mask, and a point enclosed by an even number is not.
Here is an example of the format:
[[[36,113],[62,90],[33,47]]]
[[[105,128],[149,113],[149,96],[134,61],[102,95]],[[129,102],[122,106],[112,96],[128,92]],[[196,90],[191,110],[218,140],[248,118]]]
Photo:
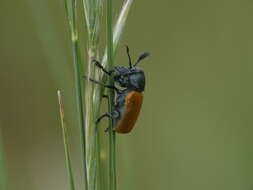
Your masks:
[[[118,85],[123,88],[132,89],[135,91],[142,92],[145,88],[145,74],[144,71],[137,68],[136,65],[145,57],[147,57],[148,53],[143,53],[136,63],[132,65],[131,57],[129,55],[129,48],[126,46],[127,55],[129,58],[129,67],[116,67],[114,74],[114,80]]]

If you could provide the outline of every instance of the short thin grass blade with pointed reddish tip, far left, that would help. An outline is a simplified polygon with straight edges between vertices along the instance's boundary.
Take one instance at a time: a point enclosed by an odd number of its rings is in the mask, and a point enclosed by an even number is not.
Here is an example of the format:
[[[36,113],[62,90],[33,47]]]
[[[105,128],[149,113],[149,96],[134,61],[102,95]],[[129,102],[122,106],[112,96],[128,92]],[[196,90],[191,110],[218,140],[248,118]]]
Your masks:
[[[72,166],[70,161],[70,155],[69,155],[69,144],[68,144],[68,133],[64,121],[64,108],[61,98],[61,92],[57,91],[58,95],[58,103],[59,103],[59,109],[60,109],[60,117],[61,117],[61,127],[62,127],[62,136],[63,136],[63,144],[64,144],[64,151],[65,151],[65,163],[68,170],[68,178],[69,178],[69,185],[70,190],[75,190],[75,183],[74,183],[74,177],[72,172]]]

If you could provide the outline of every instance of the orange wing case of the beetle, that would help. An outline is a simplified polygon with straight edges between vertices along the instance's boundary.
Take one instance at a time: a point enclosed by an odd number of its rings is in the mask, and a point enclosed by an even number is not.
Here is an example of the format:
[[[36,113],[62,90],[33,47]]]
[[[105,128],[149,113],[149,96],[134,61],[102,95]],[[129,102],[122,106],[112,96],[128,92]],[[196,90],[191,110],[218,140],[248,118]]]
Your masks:
[[[143,95],[140,92],[132,91],[125,97],[124,112],[116,126],[117,133],[129,133],[139,116]]]

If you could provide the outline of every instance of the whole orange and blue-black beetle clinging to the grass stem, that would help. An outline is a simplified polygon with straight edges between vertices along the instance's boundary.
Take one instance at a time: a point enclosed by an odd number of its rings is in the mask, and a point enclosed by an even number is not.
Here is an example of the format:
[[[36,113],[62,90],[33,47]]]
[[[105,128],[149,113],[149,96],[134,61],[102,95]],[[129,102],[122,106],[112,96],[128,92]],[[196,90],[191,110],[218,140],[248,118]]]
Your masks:
[[[96,123],[98,124],[101,119],[108,117],[113,120],[114,131],[117,133],[129,133],[139,116],[143,102],[143,91],[145,89],[145,74],[142,69],[137,68],[136,66],[141,60],[149,56],[149,53],[145,52],[139,56],[134,64],[132,64],[128,46],[126,46],[126,53],[128,56],[129,67],[118,66],[109,71],[98,61],[94,60],[94,63],[98,68],[100,68],[105,74],[113,77],[115,84],[117,84],[120,89],[115,85],[108,85],[90,79],[90,81],[96,84],[116,91],[117,97],[114,101],[113,113],[104,113],[97,119]],[[106,95],[103,97],[108,98]]]

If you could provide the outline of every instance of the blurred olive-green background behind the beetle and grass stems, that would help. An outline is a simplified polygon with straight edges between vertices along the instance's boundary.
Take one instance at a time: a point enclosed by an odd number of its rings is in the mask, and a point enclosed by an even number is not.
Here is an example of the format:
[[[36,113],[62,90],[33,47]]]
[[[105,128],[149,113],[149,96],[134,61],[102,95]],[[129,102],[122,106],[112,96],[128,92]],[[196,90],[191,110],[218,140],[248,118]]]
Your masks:
[[[68,189],[57,89],[80,188],[63,1],[2,0],[0,19],[8,189]],[[131,134],[117,136],[119,190],[253,189],[252,20],[249,0],[134,1],[116,61],[127,64],[124,44],[135,58],[143,51],[152,56],[141,64],[147,77],[141,117]]]

